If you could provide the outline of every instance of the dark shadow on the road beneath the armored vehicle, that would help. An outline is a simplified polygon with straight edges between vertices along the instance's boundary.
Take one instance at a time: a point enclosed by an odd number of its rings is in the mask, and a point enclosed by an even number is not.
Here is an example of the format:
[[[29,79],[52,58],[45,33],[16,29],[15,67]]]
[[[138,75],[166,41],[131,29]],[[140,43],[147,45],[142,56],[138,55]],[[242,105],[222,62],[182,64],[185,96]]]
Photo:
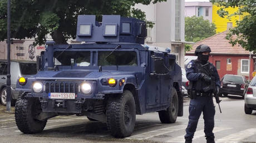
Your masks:
[[[140,134],[140,132],[147,132],[151,130],[163,129],[166,126],[181,125],[181,122],[175,124],[161,124],[160,121],[153,120],[138,120],[136,121],[134,134]],[[49,129],[50,127],[50,129]],[[48,128],[48,129],[47,129]],[[21,134],[25,135],[25,134]],[[110,132],[107,130],[107,125],[98,121],[77,122],[77,124],[64,125],[61,127],[46,126],[46,129],[37,134],[26,134],[26,136],[35,137],[76,137],[77,139],[91,139],[91,140],[113,140]],[[125,139],[120,139],[119,141]],[[118,141],[115,139],[115,141]],[[143,142],[143,141],[142,141]]]

